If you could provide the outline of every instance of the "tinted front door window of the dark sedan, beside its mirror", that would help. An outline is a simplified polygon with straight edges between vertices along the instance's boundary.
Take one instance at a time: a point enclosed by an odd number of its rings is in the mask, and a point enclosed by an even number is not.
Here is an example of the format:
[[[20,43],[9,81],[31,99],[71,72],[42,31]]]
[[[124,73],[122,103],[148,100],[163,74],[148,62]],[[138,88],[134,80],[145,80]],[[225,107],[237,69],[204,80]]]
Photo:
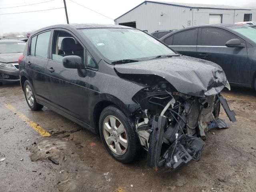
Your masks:
[[[201,45],[202,46],[225,46],[230,39],[236,36],[217,28],[202,28]]]

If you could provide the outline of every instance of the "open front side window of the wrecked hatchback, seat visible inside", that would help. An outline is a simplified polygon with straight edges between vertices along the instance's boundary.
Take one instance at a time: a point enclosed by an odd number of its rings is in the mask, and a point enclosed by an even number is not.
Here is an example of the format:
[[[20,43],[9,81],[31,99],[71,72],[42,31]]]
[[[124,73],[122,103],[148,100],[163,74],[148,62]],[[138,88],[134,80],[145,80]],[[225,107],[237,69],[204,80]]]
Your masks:
[[[64,56],[76,55],[84,59],[84,48],[68,32],[55,31],[52,44],[52,60],[62,62]]]

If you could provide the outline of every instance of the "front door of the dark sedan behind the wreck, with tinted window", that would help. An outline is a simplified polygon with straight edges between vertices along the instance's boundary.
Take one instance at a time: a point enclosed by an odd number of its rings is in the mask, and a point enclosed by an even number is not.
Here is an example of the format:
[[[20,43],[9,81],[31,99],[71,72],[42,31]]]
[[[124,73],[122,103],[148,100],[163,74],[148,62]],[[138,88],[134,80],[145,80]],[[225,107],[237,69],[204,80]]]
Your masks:
[[[212,61],[222,67],[229,82],[247,84],[247,48],[230,48],[230,39],[244,40],[220,28],[201,28],[198,35],[197,57]]]

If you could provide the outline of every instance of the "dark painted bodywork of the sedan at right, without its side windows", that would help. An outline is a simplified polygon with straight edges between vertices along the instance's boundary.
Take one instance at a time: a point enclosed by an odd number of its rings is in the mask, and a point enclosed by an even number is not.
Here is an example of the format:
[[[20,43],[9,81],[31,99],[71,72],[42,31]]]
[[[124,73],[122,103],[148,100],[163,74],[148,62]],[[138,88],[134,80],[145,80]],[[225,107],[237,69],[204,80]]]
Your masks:
[[[224,70],[230,84],[254,88],[254,81],[256,78],[256,44],[238,32],[227,28],[232,25],[234,24],[189,27],[172,32],[160,38],[160,40],[165,42],[166,38],[179,32],[198,29],[197,37],[195,37],[197,38],[196,46],[171,46],[171,48],[180,54],[209,60],[218,64]],[[230,48],[225,46],[201,46],[200,36],[202,28],[216,28],[228,32],[234,37],[240,39],[241,42],[245,44],[245,47]]]

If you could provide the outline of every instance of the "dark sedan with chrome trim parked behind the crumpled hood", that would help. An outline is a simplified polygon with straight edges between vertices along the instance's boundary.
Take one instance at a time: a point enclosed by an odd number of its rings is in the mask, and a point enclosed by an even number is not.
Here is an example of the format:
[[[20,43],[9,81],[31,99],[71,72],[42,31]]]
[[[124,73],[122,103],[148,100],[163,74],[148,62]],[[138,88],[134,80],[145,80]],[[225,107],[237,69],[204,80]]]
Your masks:
[[[203,25],[160,39],[180,54],[222,67],[230,84],[256,89],[256,30],[236,24]]]

